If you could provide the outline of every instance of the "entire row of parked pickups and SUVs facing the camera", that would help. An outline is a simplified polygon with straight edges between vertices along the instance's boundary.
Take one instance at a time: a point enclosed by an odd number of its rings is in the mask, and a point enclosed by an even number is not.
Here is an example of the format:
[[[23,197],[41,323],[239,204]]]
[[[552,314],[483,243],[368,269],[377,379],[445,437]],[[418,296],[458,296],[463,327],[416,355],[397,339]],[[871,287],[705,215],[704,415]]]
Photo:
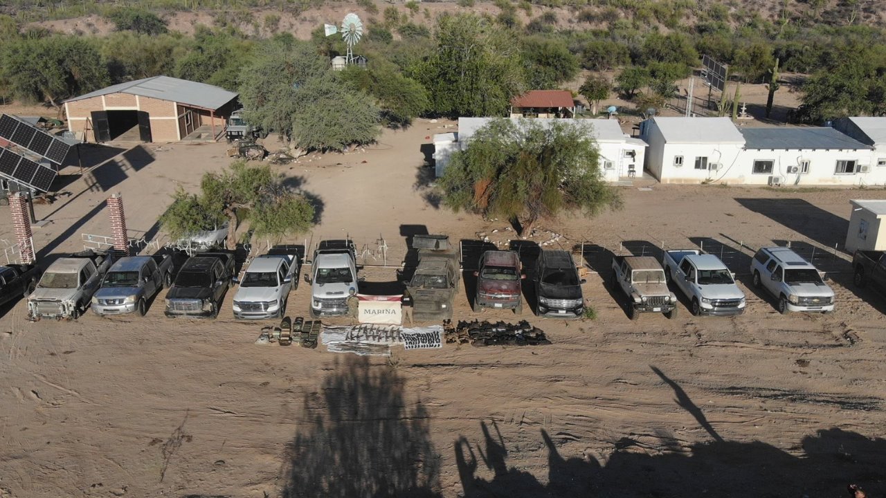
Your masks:
[[[441,321],[454,314],[455,295],[461,289],[458,252],[446,236],[416,236],[414,274],[404,282],[414,302],[418,321]],[[76,318],[92,307],[97,315],[144,315],[164,287],[167,316],[214,317],[232,284],[239,284],[232,300],[238,319],[275,318],[285,314],[290,292],[299,284],[304,247],[278,245],[253,259],[237,278],[232,252],[210,251],[188,258],[183,253],[130,256],[119,260],[111,253],[85,251],[52,263],[41,276],[33,265],[0,268],[0,304],[27,296],[29,315],[39,318]],[[310,314],[345,315],[347,299],[358,293],[361,277],[355,246],[349,239],[324,240],[315,252],[304,280],[311,285]],[[540,250],[534,262],[532,290],[536,315],[577,317],[585,312],[578,268],[571,253]],[[476,291],[470,296],[474,311],[484,308],[523,311],[527,274],[519,254],[486,251],[479,256]],[[859,251],[853,258],[855,284],[886,284],[886,255]],[[765,247],[750,263],[755,287],[773,295],[781,313],[834,310],[834,291],[820,272],[787,247]],[[661,262],[649,256],[615,256],[610,287],[627,297],[628,315],[677,315],[686,297],[693,315],[740,315],[747,302],[735,284],[734,273],[712,254],[697,250],[664,251]]]

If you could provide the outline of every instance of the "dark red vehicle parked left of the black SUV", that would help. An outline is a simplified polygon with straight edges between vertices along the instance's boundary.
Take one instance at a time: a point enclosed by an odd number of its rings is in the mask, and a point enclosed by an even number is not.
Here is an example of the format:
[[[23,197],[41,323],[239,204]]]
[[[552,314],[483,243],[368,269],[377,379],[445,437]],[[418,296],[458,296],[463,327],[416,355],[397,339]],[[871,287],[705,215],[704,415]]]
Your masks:
[[[520,257],[513,251],[486,251],[480,256],[477,277],[477,295],[474,311],[484,307],[513,309],[515,315],[523,313],[522,282],[526,276],[520,265]]]

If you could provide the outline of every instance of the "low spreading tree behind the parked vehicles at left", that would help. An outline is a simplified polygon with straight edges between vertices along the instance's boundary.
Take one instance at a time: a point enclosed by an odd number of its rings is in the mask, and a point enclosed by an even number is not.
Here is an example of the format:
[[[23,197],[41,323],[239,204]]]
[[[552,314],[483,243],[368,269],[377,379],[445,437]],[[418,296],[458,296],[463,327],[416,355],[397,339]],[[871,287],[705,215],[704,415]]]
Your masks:
[[[220,173],[203,175],[198,194],[176,191],[159,222],[175,240],[227,221],[227,245],[233,248],[240,222],[248,221],[257,236],[283,237],[310,228],[314,214],[314,205],[287,188],[268,166],[236,161]]]

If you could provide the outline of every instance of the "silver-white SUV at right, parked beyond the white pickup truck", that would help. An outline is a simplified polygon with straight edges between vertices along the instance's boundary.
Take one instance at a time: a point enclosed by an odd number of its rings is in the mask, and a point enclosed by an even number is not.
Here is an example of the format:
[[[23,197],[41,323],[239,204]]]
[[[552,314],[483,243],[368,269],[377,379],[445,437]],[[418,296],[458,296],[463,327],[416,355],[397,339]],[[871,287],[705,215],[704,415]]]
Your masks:
[[[750,262],[754,287],[778,299],[781,314],[791,311],[834,311],[834,291],[819,270],[788,247],[763,247]]]

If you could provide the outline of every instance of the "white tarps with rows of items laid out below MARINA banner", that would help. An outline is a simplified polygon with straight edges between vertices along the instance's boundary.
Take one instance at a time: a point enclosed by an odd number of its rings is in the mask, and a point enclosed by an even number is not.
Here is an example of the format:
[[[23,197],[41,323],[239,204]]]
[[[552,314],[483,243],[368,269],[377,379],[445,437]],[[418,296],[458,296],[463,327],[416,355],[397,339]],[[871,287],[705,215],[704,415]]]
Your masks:
[[[443,327],[362,324],[323,326],[320,341],[330,353],[390,356],[391,346],[402,344],[406,349],[443,347]]]

